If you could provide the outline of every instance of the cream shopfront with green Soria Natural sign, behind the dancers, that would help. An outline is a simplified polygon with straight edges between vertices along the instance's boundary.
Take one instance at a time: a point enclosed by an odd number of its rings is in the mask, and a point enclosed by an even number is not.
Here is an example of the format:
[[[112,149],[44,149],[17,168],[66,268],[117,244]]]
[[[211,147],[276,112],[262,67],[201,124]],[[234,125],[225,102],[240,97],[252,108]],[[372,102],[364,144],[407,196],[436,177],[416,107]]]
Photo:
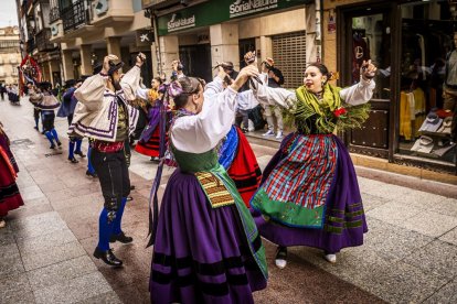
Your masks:
[[[180,59],[184,74],[210,80],[217,62],[233,62],[238,69],[243,55],[256,51],[259,62],[274,58],[286,87],[297,87],[312,59],[315,31],[307,20],[313,10],[307,4],[313,2],[144,0],[157,23],[161,66],[156,68],[170,75],[171,62]]]

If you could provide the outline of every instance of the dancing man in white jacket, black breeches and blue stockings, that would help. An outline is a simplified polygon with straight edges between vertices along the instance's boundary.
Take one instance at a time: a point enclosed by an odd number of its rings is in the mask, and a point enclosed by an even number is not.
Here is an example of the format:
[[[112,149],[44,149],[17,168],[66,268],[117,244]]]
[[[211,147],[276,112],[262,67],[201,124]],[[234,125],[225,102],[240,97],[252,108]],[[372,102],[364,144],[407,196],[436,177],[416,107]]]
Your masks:
[[[94,257],[113,267],[123,265],[123,261],[113,253],[109,242],[132,241],[121,229],[127,196],[130,193],[124,145],[128,134],[135,130],[138,119],[138,110],[130,107],[128,101],[136,98],[145,59],[145,55],[139,53],[135,66],[120,79],[119,69],[124,63],[115,63],[118,61],[117,56],[107,55],[102,72],[87,78],[74,93],[78,104],[68,134],[94,139],[91,161],[105,199]]]

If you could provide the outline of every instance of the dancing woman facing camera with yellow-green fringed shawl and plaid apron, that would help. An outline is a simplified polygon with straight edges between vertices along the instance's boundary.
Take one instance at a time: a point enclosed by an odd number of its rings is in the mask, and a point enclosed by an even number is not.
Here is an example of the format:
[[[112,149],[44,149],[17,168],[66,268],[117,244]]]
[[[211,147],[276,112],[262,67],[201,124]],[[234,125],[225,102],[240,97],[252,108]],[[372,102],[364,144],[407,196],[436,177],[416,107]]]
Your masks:
[[[251,200],[261,235],[278,245],[278,268],[286,267],[289,246],[320,248],[334,263],[340,249],[363,243],[368,227],[357,175],[333,131],[360,127],[368,118],[375,70],[365,62],[360,83],[341,89],[328,84],[332,75],[315,63],[295,93],[253,88],[258,100],[281,106],[297,128],[283,140]]]

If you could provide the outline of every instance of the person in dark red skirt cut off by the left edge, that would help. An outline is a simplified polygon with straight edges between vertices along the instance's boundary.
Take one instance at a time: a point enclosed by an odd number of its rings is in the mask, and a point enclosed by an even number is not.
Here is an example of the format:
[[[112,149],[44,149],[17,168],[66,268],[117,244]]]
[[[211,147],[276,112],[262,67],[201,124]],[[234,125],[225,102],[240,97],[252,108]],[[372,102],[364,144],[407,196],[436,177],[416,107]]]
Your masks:
[[[0,228],[7,226],[8,211],[24,205],[15,178],[19,167],[10,150],[10,139],[0,122]]]

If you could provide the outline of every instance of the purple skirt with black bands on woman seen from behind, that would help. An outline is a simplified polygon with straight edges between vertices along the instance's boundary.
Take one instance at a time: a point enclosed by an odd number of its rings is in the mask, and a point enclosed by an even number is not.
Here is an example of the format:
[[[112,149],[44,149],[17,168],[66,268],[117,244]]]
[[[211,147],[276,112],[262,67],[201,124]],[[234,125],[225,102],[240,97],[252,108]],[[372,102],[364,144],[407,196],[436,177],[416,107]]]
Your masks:
[[[235,205],[212,208],[179,169],[163,194],[150,276],[151,303],[254,303],[266,287]]]

